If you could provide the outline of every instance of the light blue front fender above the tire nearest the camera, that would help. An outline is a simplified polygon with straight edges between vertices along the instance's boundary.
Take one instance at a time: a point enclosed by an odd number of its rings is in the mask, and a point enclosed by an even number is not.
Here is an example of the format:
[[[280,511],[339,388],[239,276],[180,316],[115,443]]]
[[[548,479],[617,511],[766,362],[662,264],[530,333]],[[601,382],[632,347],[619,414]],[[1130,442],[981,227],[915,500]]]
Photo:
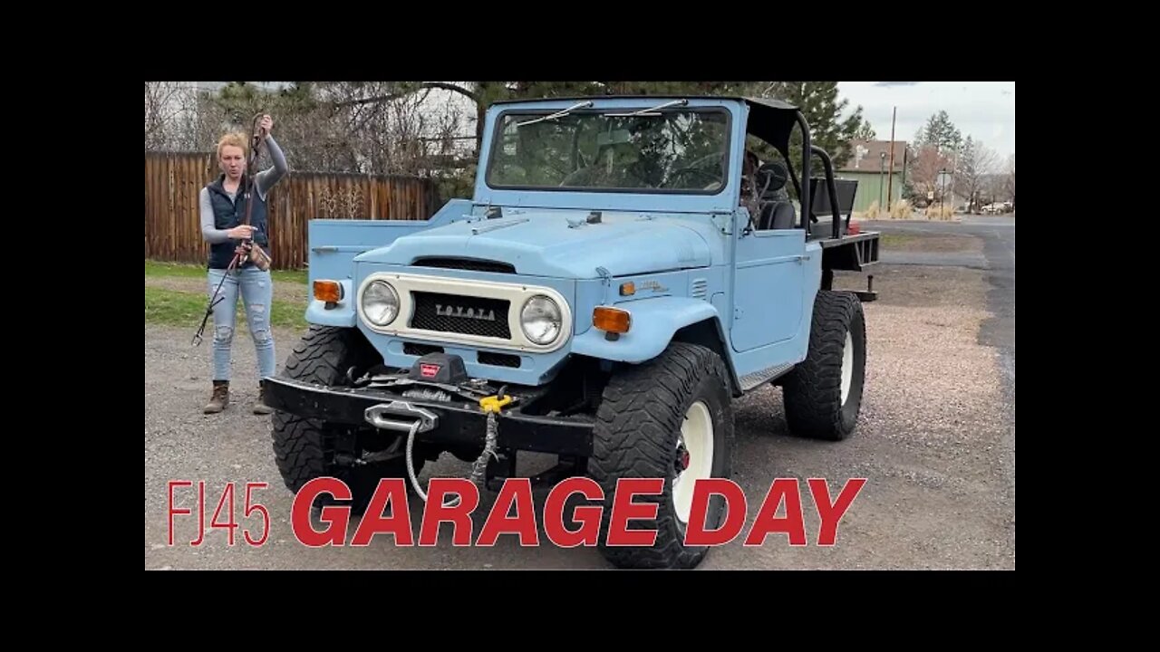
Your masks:
[[[710,318],[720,323],[711,303],[689,297],[655,297],[615,307],[632,316],[629,332],[617,340],[607,340],[604,331],[589,328],[572,340],[572,353],[616,362],[645,362],[660,355],[679,329]]]

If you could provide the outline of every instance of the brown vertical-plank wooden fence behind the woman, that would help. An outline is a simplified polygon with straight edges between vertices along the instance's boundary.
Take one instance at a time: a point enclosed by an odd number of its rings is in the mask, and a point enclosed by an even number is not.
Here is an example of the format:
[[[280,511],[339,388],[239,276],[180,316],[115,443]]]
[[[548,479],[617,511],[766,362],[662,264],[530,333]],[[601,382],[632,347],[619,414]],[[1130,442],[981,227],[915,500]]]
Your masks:
[[[198,195],[217,174],[212,152],[145,152],[146,259],[206,261]],[[427,219],[438,202],[428,179],[297,172],[291,166],[269,196],[274,267],[305,267],[310,219]]]

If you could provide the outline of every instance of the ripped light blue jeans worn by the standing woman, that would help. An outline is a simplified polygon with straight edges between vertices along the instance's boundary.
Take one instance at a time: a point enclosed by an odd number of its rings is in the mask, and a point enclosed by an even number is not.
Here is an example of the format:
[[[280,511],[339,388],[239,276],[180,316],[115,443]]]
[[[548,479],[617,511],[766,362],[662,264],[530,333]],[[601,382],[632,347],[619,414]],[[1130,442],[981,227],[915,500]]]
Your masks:
[[[274,303],[274,281],[270,273],[256,267],[233,269],[224,283],[224,269],[210,269],[208,276],[210,298],[213,298],[217,290],[217,297],[222,299],[213,306],[213,379],[230,379],[230,347],[233,345],[239,294],[246,309],[246,325],[254,340],[254,352],[258,354],[259,378],[273,376],[275,357],[270,307]]]

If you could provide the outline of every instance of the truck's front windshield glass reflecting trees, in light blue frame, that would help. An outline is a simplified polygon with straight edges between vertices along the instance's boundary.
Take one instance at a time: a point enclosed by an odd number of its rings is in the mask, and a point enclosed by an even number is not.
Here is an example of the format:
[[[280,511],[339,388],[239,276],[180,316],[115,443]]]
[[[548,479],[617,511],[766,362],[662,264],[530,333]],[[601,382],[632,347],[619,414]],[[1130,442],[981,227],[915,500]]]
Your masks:
[[[725,187],[728,113],[639,109],[508,113],[487,166],[493,188],[715,194]],[[520,124],[524,123],[524,124]]]

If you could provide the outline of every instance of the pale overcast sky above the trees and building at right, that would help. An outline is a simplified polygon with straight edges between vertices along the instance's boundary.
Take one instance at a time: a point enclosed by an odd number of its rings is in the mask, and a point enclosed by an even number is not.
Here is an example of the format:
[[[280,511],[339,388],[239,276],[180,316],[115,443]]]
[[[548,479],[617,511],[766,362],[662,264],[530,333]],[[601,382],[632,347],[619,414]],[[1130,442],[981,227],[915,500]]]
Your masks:
[[[862,104],[880,140],[890,139],[894,107],[894,139],[907,143],[927,118],[945,110],[963,138],[983,140],[1000,160],[1015,153],[1014,81],[841,81],[838,92],[851,108]]]

